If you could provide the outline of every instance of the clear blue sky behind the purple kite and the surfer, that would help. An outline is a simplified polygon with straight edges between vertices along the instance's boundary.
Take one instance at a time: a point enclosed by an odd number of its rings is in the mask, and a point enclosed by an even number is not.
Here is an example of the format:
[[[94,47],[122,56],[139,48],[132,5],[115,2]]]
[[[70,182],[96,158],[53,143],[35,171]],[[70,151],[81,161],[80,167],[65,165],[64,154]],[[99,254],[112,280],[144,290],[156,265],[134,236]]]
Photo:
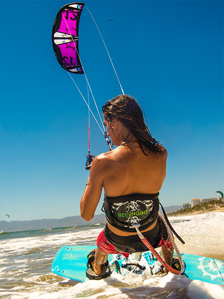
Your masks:
[[[168,151],[163,206],[218,196],[224,191],[223,1],[84,2],[124,92],[137,99],[152,136]],[[0,220],[80,214],[89,175],[88,108],[51,42],[56,14],[67,3],[0,1]],[[121,89],[85,6],[79,36],[101,112]],[[72,76],[87,99],[84,75]],[[107,150],[91,117],[91,153]]]

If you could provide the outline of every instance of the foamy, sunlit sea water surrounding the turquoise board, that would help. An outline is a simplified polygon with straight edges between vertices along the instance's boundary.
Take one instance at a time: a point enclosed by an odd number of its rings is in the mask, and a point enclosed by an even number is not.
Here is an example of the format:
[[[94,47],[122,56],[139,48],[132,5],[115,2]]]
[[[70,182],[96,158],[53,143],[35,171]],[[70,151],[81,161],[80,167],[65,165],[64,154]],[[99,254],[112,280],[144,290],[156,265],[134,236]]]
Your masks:
[[[169,218],[186,241],[183,253],[224,261],[224,213]],[[188,221],[184,221],[188,220]],[[1,299],[224,299],[224,286],[166,276],[112,274],[101,281],[79,283],[51,273],[64,245],[93,245],[103,225],[0,234]]]

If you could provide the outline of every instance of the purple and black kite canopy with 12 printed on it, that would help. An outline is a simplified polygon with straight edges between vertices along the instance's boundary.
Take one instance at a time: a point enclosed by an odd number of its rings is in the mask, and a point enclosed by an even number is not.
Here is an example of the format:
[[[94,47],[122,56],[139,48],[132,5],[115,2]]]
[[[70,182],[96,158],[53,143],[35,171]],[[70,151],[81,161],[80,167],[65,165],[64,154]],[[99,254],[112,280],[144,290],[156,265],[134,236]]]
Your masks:
[[[84,74],[79,56],[79,19],[85,3],[63,6],[54,21],[52,44],[59,64],[68,72]]]

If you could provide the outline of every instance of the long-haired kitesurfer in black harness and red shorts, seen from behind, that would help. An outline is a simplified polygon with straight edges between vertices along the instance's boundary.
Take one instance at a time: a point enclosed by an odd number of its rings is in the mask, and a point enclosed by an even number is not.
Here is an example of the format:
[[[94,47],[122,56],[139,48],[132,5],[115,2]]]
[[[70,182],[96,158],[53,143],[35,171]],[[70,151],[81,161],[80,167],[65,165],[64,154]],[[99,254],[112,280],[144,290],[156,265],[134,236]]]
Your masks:
[[[138,103],[119,95],[103,106],[104,125],[115,149],[96,156],[81,199],[81,216],[87,221],[105,191],[107,225],[97,239],[97,249],[88,255],[89,279],[110,276],[108,254],[148,251],[134,225],[153,248],[161,247],[171,266],[173,246],[158,218],[159,191],[166,177],[167,151],[152,138]],[[165,270],[167,273],[168,271]]]

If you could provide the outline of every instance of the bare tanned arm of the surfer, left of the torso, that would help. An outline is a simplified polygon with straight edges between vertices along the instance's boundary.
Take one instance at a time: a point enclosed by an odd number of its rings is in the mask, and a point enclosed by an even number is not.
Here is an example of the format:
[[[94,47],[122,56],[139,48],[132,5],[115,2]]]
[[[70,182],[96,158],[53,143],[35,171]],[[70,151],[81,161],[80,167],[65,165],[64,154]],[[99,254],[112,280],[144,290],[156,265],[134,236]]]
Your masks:
[[[90,221],[101,198],[103,189],[104,171],[102,171],[103,159],[96,156],[93,160],[90,176],[88,177],[85,191],[80,202],[81,217]]]

